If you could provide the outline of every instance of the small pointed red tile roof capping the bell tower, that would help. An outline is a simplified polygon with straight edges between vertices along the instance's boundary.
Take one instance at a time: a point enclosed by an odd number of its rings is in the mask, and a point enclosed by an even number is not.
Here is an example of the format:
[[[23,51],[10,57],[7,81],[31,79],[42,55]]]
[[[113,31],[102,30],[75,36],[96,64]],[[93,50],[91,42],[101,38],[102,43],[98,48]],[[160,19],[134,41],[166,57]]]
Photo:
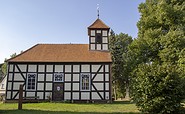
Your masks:
[[[110,27],[107,26],[101,19],[97,19],[92,25],[88,27],[88,29],[109,29]]]

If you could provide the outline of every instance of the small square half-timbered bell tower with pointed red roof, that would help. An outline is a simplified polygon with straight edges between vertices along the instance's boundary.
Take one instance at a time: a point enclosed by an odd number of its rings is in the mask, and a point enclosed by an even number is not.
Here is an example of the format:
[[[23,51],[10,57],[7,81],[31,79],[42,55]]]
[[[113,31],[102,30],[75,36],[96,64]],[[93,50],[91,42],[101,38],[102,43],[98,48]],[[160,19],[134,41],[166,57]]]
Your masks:
[[[89,50],[108,51],[110,27],[99,18],[88,27]]]

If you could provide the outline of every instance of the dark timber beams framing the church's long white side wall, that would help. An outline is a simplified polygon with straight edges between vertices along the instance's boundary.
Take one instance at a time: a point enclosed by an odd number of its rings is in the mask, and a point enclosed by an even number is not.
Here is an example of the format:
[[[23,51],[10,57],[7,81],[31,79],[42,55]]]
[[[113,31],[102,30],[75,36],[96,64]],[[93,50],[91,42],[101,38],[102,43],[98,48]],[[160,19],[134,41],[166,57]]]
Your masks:
[[[13,70],[10,71],[10,65],[13,65]],[[19,65],[25,65],[25,71],[21,71],[21,69],[19,68]],[[29,65],[35,65],[36,66],[36,71],[35,72],[29,72],[28,71],[28,67]],[[44,72],[39,72],[39,65],[43,65],[44,66]],[[53,70],[51,72],[47,72],[47,66],[48,65],[51,65]],[[6,86],[6,95],[7,93],[11,93],[10,97],[8,98],[8,96],[6,97],[6,100],[7,101],[11,101],[11,100],[18,100],[18,95],[19,95],[19,91],[18,89],[14,89],[14,83],[22,83],[23,84],[23,94],[24,94],[24,97],[27,96],[28,92],[35,92],[35,97],[38,96],[38,92],[42,92],[43,93],[43,98],[39,99],[39,101],[45,101],[45,100],[48,100],[46,98],[46,92],[50,92],[50,93],[53,93],[53,78],[51,81],[47,81],[46,80],[46,76],[47,74],[50,74],[53,76],[55,72],[55,65],[63,65],[63,71],[62,73],[64,73],[64,85],[63,85],[63,88],[65,88],[65,83],[68,83],[71,85],[71,90],[65,90],[64,89],[64,92],[70,92],[71,96],[70,96],[70,101],[89,101],[89,102],[94,102],[94,101],[110,101],[112,100],[112,94],[111,94],[111,63],[110,62],[97,62],[97,63],[86,63],[86,62],[83,62],[83,63],[52,63],[52,62],[48,62],[48,63],[42,63],[42,62],[9,62],[9,66],[8,66],[8,76],[7,76],[7,86]],[[65,67],[66,65],[71,65],[71,71],[69,72],[66,72],[65,71]],[[73,72],[74,71],[74,65],[79,65],[79,72]],[[83,72],[82,71],[82,65],[89,65],[89,72]],[[100,67],[98,68],[98,70],[96,72],[93,72],[92,71],[92,66],[93,65],[100,65]],[[106,71],[105,69],[105,65],[108,65],[108,71]],[[15,71],[15,69],[17,69],[18,71]],[[103,70],[103,72],[100,72],[100,70]],[[35,91],[28,91],[26,90],[26,79],[27,79],[27,74],[28,73],[37,73],[37,80],[36,80],[36,90]],[[80,73],[90,73],[92,75],[92,78],[91,78],[91,86],[90,86],[90,91],[89,92],[89,99],[82,99],[82,93],[84,93],[84,91],[80,91]],[[9,80],[9,76],[10,74],[12,75],[12,79]],[[23,80],[15,80],[15,75],[16,74],[19,74],[19,76],[22,77]],[[38,80],[38,76],[39,74],[42,74],[44,75],[44,80],[43,81],[39,81]],[[65,77],[66,77],[66,74],[70,74],[71,75],[71,81],[65,81]],[[79,74],[79,81],[74,81],[73,80],[73,76],[74,74]],[[102,74],[103,75],[103,81],[95,81],[94,79],[96,78],[97,74]],[[106,81],[106,74],[109,75],[109,80]],[[38,84],[41,83],[43,84],[43,90],[38,90]],[[46,90],[46,84],[52,84],[52,90]],[[74,84],[78,83],[79,84],[79,90],[73,90],[73,86]],[[98,83],[102,83],[103,84],[103,90],[98,90],[97,87],[95,86],[95,84],[98,84]],[[9,85],[8,84],[11,84],[11,89],[9,88]],[[109,90],[106,90],[106,84],[109,84]],[[77,92],[79,93],[79,99],[73,99],[73,92]],[[86,91],[85,91],[86,92]],[[98,96],[101,98],[101,99],[93,99],[93,92],[97,93]],[[103,95],[101,94],[103,93]],[[106,93],[109,93],[109,98],[107,99],[106,98]],[[63,94],[63,97],[65,98],[65,94]],[[36,99],[35,99],[36,100]]]

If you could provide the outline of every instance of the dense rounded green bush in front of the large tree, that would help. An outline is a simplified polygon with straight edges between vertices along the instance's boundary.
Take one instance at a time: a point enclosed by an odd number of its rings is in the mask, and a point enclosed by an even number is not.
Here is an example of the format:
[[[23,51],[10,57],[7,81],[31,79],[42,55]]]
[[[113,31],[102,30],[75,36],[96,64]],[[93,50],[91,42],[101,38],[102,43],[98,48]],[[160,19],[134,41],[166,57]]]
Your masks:
[[[184,79],[177,68],[142,64],[135,71],[134,100],[140,111],[153,114],[180,113]]]

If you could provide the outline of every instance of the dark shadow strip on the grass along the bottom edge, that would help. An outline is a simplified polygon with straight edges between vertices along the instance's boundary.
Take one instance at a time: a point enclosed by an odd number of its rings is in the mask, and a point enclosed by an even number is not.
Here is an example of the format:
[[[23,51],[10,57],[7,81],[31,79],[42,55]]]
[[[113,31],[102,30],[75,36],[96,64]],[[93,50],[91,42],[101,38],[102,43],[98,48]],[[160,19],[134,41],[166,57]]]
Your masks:
[[[111,113],[111,112],[110,112]],[[68,112],[68,111],[43,111],[43,110],[0,110],[0,114],[110,114],[107,112]],[[140,114],[133,112],[114,112],[114,114]]]

